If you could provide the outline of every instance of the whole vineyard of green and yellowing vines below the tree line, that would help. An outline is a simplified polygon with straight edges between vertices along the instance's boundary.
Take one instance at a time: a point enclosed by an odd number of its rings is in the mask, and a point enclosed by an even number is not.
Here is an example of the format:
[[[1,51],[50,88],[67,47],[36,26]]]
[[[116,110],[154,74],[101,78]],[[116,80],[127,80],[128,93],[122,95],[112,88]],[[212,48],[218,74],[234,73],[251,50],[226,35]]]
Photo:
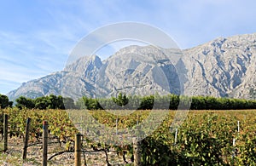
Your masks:
[[[3,152],[3,114],[9,116],[9,148]],[[161,119],[161,116],[166,115]],[[133,165],[131,139],[140,135],[143,165],[254,165],[256,111],[190,111],[170,129],[176,111],[84,111],[7,108],[0,112],[0,164],[41,165],[43,121],[49,123],[49,165],[74,164],[74,140],[82,138],[84,165]],[[26,160],[26,119],[32,118]],[[149,123],[147,123],[149,122]],[[156,125],[159,124],[159,125]],[[138,134],[140,133],[140,134]],[[16,143],[16,144],[15,144]]]

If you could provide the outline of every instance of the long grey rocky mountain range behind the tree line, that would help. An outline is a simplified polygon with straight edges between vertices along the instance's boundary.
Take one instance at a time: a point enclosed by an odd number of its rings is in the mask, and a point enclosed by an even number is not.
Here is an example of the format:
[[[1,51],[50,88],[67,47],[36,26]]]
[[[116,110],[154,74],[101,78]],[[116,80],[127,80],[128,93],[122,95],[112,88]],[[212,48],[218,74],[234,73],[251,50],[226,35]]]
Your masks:
[[[251,99],[255,56],[256,33],[219,37],[185,50],[129,46],[104,61],[84,56],[62,72],[23,83],[8,96],[61,94],[78,99],[157,92]]]

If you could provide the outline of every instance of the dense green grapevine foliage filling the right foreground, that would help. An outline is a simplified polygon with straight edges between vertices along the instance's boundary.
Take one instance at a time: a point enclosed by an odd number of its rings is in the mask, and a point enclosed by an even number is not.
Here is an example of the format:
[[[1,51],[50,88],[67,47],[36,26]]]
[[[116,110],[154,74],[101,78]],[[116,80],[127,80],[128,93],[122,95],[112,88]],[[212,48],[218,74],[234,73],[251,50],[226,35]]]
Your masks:
[[[255,165],[255,112],[195,112],[177,132],[177,144],[168,117],[153,135],[142,141],[143,165]],[[248,119],[245,121],[244,116]],[[242,124],[237,133],[237,120]],[[236,139],[236,146],[232,140]]]

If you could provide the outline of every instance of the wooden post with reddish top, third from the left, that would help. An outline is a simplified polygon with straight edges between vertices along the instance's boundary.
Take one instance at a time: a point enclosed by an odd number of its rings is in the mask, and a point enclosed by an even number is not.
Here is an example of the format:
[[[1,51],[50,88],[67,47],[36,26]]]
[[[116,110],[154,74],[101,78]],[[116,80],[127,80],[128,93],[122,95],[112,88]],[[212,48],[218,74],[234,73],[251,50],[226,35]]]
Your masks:
[[[47,166],[48,123],[43,122],[43,166]]]

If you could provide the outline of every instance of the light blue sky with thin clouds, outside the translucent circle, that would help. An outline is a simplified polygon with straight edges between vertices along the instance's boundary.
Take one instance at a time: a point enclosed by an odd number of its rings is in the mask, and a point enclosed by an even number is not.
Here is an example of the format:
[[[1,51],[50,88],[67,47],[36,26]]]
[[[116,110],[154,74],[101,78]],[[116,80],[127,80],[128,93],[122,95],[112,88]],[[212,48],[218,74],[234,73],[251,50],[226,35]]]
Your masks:
[[[63,70],[79,40],[101,26],[136,21],[181,49],[256,32],[253,0],[8,0],[0,3],[0,93]]]

